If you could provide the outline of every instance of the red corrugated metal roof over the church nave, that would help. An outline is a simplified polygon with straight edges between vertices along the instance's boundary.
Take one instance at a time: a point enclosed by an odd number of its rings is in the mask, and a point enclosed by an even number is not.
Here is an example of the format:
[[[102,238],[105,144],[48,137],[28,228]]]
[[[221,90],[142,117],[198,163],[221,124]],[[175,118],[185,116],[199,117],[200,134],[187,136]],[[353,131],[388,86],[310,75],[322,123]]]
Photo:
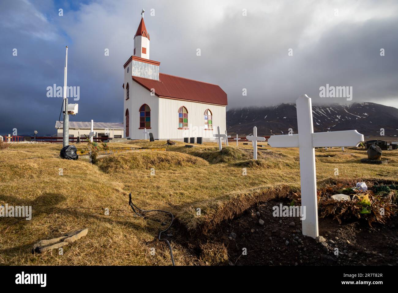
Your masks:
[[[136,76],[132,78],[147,90],[154,88],[156,96],[225,106],[228,104],[226,92],[211,83],[164,73],[159,73],[159,81]]]

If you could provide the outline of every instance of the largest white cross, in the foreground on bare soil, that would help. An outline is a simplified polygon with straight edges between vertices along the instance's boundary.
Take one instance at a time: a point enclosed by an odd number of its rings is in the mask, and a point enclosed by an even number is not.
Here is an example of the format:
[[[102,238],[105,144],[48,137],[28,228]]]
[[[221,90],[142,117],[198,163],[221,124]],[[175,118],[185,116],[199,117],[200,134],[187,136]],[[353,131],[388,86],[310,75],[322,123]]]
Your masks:
[[[298,134],[271,136],[268,145],[299,148],[301,205],[306,207],[302,234],[316,238],[319,234],[314,147],[358,146],[363,142],[363,135],[356,130],[314,133],[311,98],[306,94],[298,97],[296,108]]]

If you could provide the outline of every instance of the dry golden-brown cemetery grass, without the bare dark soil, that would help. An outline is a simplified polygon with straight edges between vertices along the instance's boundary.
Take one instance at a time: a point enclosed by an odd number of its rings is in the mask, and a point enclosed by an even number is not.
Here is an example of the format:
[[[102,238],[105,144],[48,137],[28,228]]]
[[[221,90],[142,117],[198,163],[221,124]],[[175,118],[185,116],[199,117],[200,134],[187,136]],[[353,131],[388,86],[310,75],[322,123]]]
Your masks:
[[[84,144],[78,145],[82,146]],[[12,144],[0,151],[0,203],[31,205],[33,209],[30,221],[0,220],[0,264],[170,265],[168,248],[156,240],[161,216],[154,215],[150,219],[133,216],[128,205],[129,192],[141,208],[169,210],[182,225],[196,229],[217,225],[253,203],[282,195],[279,189],[299,187],[298,150],[293,148],[267,147],[268,150],[259,151],[263,164],[259,168],[253,162],[244,163],[252,159],[252,146],[242,144],[239,150],[231,147],[238,155],[228,153],[224,162],[225,158],[211,159],[222,155],[215,149],[207,157],[212,163],[201,159],[200,153],[215,148],[214,143],[193,148],[180,142],[168,146],[165,141],[109,143],[109,147],[126,146],[164,147],[167,151],[149,151],[149,157],[146,152],[139,152],[141,155],[137,152],[138,157],[134,152],[109,155],[100,159],[99,166],[87,160],[60,159],[61,146],[56,144]],[[354,155],[343,154],[339,149],[316,150],[317,155],[331,155],[317,157],[318,181],[328,178],[398,179],[398,151],[384,151],[391,159],[386,165],[360,163],[359,160],[366,157],[365,151],[346,149],[346,152]],[[174,157],[168,159],[164,155]],[[126,161],[121,158],[127,158],[128,167],[123,166]],[[114,167],[112,164],[121,165]],[[154,176],[148,169],[151,164],[156,171]],[[101,166],[107,172],[102,171]],[[63,176],[59,175],[60,168]],[[247,169],[247,175],[242,175],[242,168]],[[336,168],[338,176],[334,175]],[[271,192],[272,189],[275,190]],[[204,217],[195,218],[190,214],[191,207],[201,208]],[[109,209],[108,216],[105,208]],[[31,246],[39,240],[81,228],[89,228],[88,235],[67,246],[62,256],[57,252],[30,253]],[[154,256],[150,255],[152,247],[156,248]],[[172,247],[176,264],[197,262],[186,248],[175,242]]]

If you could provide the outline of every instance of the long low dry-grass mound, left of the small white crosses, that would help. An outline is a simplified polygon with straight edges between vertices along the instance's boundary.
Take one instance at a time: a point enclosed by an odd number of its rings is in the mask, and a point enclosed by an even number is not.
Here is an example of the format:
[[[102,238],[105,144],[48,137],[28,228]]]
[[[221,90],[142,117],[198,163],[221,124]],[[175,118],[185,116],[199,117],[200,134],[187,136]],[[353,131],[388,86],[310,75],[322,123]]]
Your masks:
[[[131,169],[168,169],[181,166],[205,166],[208,163],[198,157],[173,151],[132,151],[117,153],[99,159],[98,167],[105,173]]]

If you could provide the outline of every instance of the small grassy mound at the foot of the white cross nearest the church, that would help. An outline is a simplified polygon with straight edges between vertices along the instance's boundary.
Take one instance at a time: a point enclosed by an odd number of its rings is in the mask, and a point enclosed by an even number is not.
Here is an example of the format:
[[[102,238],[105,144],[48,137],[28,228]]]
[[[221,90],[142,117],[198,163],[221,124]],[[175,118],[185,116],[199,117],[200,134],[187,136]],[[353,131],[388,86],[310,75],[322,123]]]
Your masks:
[[[219,151],[218,147],[207,147],[201,151],[194,151],[192,155],[201,157],[209,163],[230,163],[249,158],[248,151],[237,147],[226,146]]]

